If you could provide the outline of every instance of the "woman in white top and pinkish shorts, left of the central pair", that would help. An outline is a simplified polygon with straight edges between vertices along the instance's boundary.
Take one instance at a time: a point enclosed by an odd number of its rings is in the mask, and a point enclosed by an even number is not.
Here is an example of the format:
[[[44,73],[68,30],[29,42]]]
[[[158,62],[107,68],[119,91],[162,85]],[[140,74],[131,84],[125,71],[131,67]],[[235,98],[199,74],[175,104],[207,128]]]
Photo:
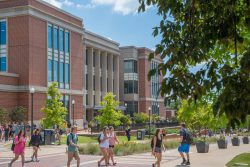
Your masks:
[[[100,149],[102,152],[103,157],[100,161],[98,161],[98,167],[101,166],[101,162],[105,160],[105,167],[108,166],[108,160],[109,160],[109,128],[105,126],[103,128],[103,132],[98,137],[99,143],[100,143]]]

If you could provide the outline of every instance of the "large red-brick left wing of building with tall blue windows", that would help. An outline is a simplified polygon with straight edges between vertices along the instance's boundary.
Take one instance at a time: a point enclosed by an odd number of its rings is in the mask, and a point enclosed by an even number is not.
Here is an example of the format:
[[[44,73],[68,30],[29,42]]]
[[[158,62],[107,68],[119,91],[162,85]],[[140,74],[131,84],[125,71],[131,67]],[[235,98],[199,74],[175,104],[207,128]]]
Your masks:
[[[82,124],[82,19],[40,0],[3,0],[0,29],[0,106],[24,106],[30,120],[34,88],[34,121],[39,123],[47,88],[58,82],[67,120],[74,100],[74,119]]]

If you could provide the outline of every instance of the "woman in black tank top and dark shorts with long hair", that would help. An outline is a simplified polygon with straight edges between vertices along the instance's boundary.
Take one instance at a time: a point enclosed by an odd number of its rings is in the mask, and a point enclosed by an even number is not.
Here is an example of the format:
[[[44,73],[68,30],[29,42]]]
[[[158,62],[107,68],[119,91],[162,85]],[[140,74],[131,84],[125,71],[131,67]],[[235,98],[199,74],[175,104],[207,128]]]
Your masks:
[[[162,149],[165,151],[163,141],[163,134],[162,129],[157,129],[156,133],[153,137],[153,149],[152,149],[152,155],[155,156],[156,162],[152,164],[152,167],[161,166],[161,160],[162,160]]]

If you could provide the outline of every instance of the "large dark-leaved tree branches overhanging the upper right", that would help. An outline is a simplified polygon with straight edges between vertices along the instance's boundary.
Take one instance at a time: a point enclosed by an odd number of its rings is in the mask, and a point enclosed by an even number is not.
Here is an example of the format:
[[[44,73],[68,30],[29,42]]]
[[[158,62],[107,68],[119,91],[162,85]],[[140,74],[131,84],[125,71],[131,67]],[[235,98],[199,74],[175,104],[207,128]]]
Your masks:
[[[153,30],[160,36],[154,54],[164,59],[150,76],[164,76],[161,94],[194,101],[220,92],[215,115],[231,125],[250,114],[249,0],[139,0],[139,11],[155,5],[162,18]],[[195,70],[194,70],[195,68]]]

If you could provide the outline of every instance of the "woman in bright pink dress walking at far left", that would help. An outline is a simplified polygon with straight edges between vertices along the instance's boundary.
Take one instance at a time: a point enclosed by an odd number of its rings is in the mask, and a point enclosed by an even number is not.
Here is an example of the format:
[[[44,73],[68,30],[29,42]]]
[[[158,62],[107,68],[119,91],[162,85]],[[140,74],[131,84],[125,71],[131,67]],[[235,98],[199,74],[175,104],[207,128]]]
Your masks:
[[[24,153],[25,153],[25,144],[26,144],[26,138],[25,133],[23,130],[20,130],[18,135],[14,139],[14,154],[15,157],[11,160],[8,167],[11,167],[12,164],[19,158],[21,155],[22,158],[22,167],[24,167]]]

